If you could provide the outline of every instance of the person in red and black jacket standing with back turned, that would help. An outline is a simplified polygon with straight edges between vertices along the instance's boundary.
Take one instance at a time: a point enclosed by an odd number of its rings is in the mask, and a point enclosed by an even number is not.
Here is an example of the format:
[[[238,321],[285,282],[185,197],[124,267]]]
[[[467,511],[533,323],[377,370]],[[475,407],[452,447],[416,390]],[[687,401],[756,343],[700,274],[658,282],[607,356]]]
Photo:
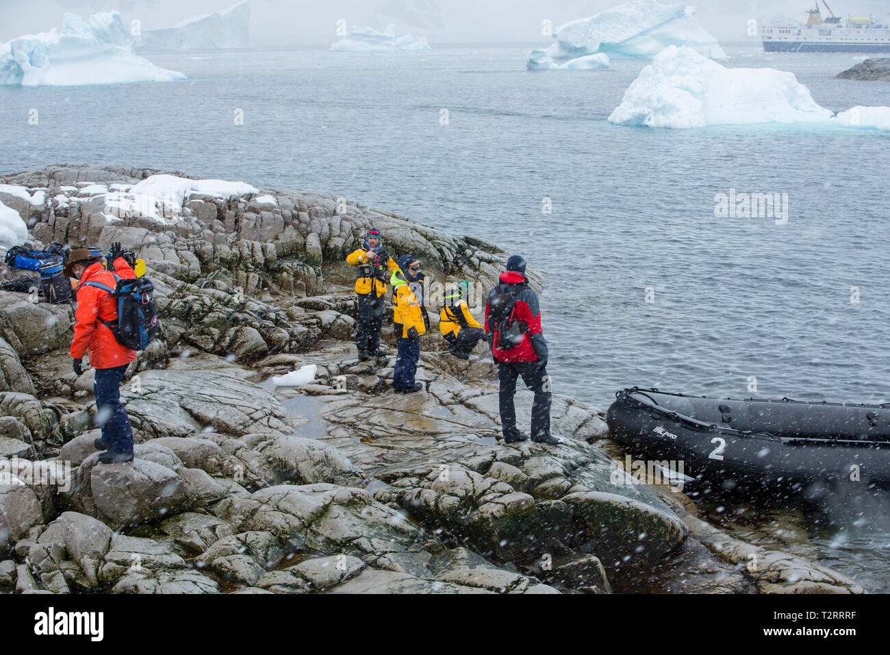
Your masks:
[[[541,310],[538,294],[531,291],[525,276],[525,259],[519,255],[506,260],[506,273],[500,275],[500,283],[489,292],[485,304],[485,333],[491,347],[491,356],[498,365],[500,381],[499,405],[501,430],[507,443],[525,441],[528,435],[516,430],[516,408],[513,397],[516,380],[522,381],[535,394],[531,408],[531,440],[541,444],[557,445],[559,438],[550,434],[550,377],[546,372],[547,342],[541,328]],[[510,322],[520,327],[515,345],[498,347],[501,318],[510,316]]]

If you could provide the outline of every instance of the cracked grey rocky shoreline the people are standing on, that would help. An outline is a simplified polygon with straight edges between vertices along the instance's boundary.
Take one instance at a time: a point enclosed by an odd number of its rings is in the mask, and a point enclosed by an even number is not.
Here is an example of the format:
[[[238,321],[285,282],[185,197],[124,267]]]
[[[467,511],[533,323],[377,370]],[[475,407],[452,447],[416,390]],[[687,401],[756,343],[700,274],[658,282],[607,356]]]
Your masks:
[[[426,337],[411,396],[388,389],[393,357],[357,360],[344,253],[368,226],[438,280],[493,284],[497,246],[324,193],[187,192],[160,217],[122,202],[159,173],[0,177],[32,198],[0,187],[29,243],[137,250],[163,318],[122,389],[136,459],[106,465],[91,373],[70,371],[70,308],[0,291],[0,590],[862,593],[638,483],[603,412],[573,398],[554,396],[564,445],[498,440],[484,345],[463,362]],[[268,380],[304,364],[311,384]],[[517,401],[528,422],[530,395]]]

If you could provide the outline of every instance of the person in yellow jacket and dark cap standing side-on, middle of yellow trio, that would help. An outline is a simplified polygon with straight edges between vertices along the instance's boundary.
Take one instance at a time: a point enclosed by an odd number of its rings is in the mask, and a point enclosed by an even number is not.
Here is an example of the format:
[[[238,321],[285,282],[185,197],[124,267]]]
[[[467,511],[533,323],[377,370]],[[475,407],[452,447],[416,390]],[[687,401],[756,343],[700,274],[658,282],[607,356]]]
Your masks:
[[[395,304],[392,318],[399,338],[399,355],[392,370],[392,390],[396,393],[409,394],[424,388],[422,383],[414,381],[420,359],[420,335],[425,334],[430,325],[424,307],[422,275],[420,262],[411,255],[403,255],[399,258],[399,270],[392,274],[390,281]]]

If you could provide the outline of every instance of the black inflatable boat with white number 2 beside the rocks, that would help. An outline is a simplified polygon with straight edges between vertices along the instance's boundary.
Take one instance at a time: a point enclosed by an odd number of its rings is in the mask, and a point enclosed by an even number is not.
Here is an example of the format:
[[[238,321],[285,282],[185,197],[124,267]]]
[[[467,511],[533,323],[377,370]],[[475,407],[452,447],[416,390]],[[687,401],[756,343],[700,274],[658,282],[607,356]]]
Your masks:
[[[634,454],[732,485],[848,479],[890,483],[890,404],[718,400],[623,389],[606,421]]]

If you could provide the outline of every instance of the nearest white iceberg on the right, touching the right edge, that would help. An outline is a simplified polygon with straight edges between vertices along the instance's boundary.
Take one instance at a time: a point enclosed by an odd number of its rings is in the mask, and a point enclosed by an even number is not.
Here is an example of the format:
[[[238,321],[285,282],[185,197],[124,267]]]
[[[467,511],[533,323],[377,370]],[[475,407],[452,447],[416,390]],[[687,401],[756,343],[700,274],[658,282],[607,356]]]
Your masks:
[[[793,73],[729,69],[692,48],[670,46],[640,72],[609,121],[676,129],[755,123],[887,129],[888,117],[887,107],[854,107],[835,117]]]

